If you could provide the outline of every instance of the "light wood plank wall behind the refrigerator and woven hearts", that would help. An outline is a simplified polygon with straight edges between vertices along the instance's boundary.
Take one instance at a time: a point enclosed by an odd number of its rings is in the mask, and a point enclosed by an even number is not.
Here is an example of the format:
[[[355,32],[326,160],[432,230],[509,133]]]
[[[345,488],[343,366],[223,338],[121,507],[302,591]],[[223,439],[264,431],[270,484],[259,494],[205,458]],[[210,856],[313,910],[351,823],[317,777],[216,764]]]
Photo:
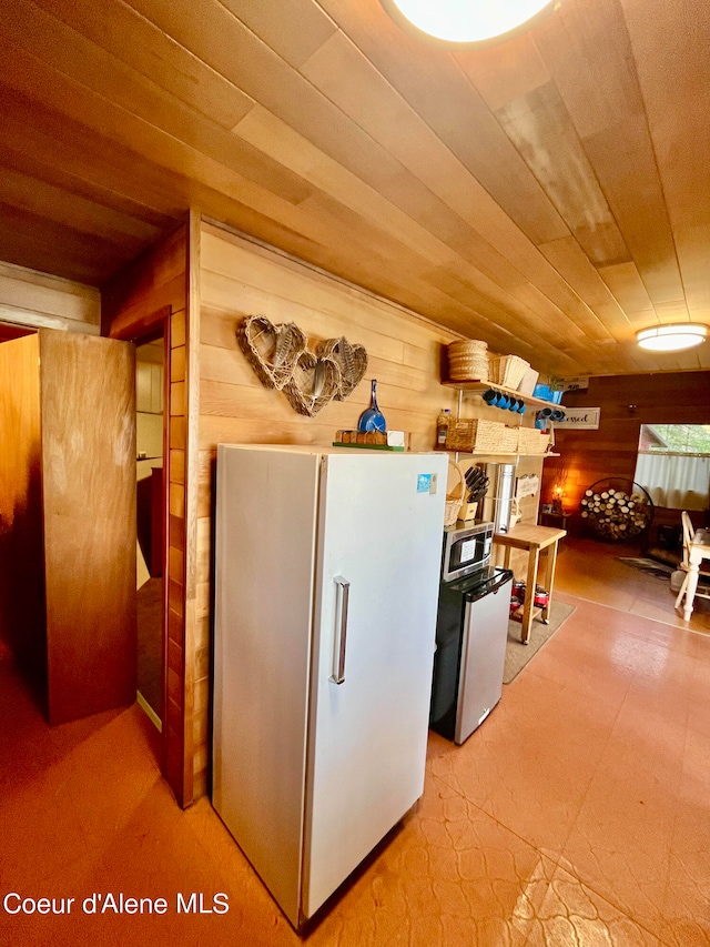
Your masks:
[[[265,389],[237,345],[235,329],[262,313],[274,323],[295,322],[314,344],[345,335],[367,349],[365,380],[345,402],[316,417],[297,414],[284,394]],[[210,756],[209,695],[212,614],[212,504],[216,444],[329,445],[338,427],[356,427],[378,381],[387,425],[412,434],[412,449],[430,450],[443,406],[456,393],[439,384],[442,345],[455,335],[414,313],[234,234],[203,224],[201,240],[200,471],[197,505],[197,677],[195,759]],[[203,709],[204,708],[204,713]],[[202,774],[202,770],[201,770]],[[200,785],[204,785],[200,775]]]

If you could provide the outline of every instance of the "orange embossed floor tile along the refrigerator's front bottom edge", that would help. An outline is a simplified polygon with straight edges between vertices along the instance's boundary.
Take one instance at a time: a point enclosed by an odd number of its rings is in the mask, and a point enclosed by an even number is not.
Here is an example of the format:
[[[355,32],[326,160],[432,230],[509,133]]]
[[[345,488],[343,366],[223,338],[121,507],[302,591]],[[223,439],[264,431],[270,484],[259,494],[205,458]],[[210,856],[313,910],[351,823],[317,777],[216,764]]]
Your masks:
[[[521,947],[554,870],[531,846],[429,776],[402,832],[307,943]],[[364,941],[355,919],[363,914],[371,917]]]

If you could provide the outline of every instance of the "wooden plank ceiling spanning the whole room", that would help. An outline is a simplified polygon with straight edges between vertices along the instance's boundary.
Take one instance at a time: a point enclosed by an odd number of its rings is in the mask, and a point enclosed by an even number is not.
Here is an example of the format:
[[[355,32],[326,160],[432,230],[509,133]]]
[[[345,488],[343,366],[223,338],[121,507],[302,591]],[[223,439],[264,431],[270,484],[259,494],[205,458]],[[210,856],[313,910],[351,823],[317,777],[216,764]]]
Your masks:
[[[192,204],[571,376],[710,367],[710,3],[477,50],[378,0],[0,0],[0,260],[101,285]]]

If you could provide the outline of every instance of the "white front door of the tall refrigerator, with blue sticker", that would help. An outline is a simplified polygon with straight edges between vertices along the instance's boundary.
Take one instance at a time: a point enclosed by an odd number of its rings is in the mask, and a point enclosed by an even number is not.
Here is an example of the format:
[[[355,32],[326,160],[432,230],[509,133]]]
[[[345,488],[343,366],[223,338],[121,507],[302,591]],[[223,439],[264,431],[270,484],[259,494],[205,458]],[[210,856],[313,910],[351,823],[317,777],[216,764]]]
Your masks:
[[[424,789],[447,467],[446,456],[374,452],[329,454],[325,463],[307,917]]]

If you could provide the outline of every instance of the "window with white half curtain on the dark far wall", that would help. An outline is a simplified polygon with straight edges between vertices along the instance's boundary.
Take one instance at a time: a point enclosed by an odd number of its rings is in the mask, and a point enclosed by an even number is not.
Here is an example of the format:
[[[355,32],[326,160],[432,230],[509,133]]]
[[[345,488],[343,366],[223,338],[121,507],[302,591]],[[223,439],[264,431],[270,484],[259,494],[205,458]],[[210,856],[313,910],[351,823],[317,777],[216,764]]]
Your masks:
[[[710,424],[643,424],[633,480],[657,506],[710,505]]]

